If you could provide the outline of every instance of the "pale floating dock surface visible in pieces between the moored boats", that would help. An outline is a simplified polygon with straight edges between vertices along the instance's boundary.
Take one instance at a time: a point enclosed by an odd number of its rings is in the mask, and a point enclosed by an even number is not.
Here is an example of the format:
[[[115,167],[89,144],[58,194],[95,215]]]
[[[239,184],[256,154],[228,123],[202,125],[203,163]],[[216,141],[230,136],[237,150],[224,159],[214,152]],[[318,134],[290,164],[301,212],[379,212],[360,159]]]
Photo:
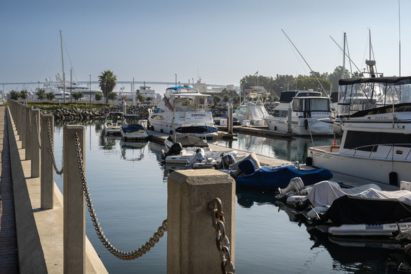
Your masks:
[[[149,134],[149,140],[153,141],[153,142],[157,142],[160,145],[164,145],[164,140],[169,137],[169,134],[163,134],[160,132],[154,132],[152,130],[147,130],[147,134]],[[214,144],[208,144],[211,149],[213,151],[227,151],[229,148],[227,147],[223,147],[221,145],[214,145]],[[241,151],[238,150],[238,156],[243,156],[243,155],[249,155],[249,153],[253,152],[253,151]],[[268,156],[264,156],[264,155],[259,155],[257,154],[257,158],[260,161],[260,163],[262,165],[265,166],[275,166],[275,165],[279,165],[279,164],[288,164],[289,161],[287,160],[282,160],[282,159],[277,159],[277,158],[272,158],[272,157],[268,157]],[[303,169],[313,169],[311,166],[306,166],[305,164],[302,166]],[[382,190],[399,190],[398,186],[390,186],[389,184],[382,184],[379,182],[373,182],[367,179],[362,179],[359,177],[354,177],[351,175],[346,175],[346,174],[342,174],[342,173],[336,173],[334,171],[332,171],[332,174],[334,175],[334,179],[336,180],[336,182],[340,182],[340,183],[344,183],[347,186],[362,186],[364,184],[376,184],[377,186],[379,186],[380,188],[382,188]]]

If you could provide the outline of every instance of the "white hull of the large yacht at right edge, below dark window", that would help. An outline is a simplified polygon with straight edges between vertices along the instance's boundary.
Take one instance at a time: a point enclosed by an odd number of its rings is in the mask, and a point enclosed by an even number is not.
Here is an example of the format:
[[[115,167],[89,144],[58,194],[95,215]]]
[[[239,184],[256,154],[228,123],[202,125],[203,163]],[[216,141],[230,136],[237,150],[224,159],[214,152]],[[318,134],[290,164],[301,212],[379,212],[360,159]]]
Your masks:
[[[308,157],[312,164],[329,171],[343,173],[374,182],[389,184],[390,172],[397,173],[398,182],[411,180],[411,161],[369,158],[368,151],[362,151],[364,156],[346,155],[338,153],[338,147],[309,147]],[[333,152],[330,152],[333,151]]]

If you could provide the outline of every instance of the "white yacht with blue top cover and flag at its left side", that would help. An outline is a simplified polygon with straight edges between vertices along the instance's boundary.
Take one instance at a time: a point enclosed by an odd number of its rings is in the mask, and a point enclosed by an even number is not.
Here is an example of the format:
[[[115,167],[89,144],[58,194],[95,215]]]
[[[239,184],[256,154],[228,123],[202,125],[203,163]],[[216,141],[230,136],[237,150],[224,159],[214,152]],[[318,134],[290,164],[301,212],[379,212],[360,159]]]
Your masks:
[[[149,122],[155,132],[173,134],[178,127],[200,126],[208,129],[206,137],[216,136],[218,129],[208,111],[209,96],[188,86],[167,88],[164,99],[149,116]]]

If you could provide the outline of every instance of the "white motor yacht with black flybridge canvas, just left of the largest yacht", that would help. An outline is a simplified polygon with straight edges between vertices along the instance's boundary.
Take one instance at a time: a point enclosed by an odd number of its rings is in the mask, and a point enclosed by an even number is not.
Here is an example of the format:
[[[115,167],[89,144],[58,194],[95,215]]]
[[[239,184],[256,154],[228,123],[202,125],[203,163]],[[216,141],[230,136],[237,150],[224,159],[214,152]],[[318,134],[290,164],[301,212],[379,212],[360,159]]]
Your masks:
[[[329,98],[322,97],[321,92],[286,90],[281,92],[279,102],[273,115],[264,116],[270,130],[297,135],[333,134],[332,123],[324,122],[331,116]]]

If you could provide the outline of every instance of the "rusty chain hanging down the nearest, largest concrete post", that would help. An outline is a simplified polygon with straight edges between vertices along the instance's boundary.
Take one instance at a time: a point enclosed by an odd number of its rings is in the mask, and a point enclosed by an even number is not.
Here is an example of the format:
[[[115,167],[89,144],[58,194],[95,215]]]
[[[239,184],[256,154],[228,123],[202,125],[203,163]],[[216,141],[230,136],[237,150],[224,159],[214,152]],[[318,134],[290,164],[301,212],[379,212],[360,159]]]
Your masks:
[[[225,219],[224,212],[221,210],[223,208],[221,200],[219,198],[214,198],[208,203],[208,207],[212,210],[212,226],[216,229],[216,245],[220,253],[221,271],[223,271],[223,274],[235,274],[236,269],[234,268],[229,253],[229,239],[227,235],[225,235]]]

